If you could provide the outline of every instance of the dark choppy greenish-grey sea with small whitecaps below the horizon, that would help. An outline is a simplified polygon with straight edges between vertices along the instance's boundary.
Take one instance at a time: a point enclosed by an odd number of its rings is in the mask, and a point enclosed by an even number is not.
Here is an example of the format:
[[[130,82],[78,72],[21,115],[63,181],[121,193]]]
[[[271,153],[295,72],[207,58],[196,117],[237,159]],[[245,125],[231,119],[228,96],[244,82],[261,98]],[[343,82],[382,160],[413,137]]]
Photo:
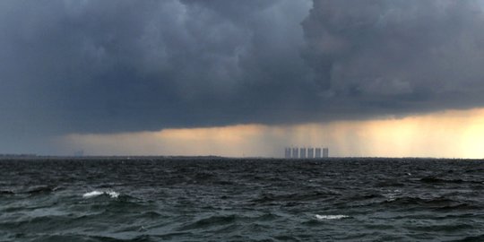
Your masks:
[[[0,241],[484,241],[480,160],[0,160]]]

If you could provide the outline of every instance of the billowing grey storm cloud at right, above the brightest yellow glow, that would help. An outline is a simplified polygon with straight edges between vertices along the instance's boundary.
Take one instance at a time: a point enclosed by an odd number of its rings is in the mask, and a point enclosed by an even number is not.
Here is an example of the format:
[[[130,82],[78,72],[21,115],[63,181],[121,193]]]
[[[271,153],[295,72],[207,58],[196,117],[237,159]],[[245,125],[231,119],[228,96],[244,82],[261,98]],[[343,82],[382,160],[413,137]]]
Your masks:
[[[323,96],[356,112],[483,104],[483,1],[314,1],[302,56]]]

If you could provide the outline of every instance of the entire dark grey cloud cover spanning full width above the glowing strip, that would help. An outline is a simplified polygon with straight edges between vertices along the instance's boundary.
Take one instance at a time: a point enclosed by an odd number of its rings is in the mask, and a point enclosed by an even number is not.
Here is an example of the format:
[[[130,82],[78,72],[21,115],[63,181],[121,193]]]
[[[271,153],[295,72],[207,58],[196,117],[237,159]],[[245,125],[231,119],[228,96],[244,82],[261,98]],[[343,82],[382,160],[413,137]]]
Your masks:
[[[3,0],[0,152],[484,105],[480,0]]]

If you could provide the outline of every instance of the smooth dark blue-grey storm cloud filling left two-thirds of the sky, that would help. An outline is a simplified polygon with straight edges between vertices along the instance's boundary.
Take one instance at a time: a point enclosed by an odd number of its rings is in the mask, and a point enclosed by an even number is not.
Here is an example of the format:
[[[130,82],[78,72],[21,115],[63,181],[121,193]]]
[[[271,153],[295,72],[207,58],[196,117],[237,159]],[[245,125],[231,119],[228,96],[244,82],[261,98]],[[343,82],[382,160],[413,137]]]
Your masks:
[[[3,1],[4,132],[269,120],[307,68],[301,3]]]

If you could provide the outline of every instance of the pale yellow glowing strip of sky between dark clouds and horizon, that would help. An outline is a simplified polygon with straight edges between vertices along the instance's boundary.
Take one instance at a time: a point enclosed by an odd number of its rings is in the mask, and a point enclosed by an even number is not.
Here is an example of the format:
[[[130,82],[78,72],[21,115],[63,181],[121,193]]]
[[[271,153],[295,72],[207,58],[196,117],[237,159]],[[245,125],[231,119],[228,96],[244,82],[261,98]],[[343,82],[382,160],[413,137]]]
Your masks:
[[[306,125],[233,125],[60,138],[91,155],[282,157],[286,146],[329,147],[337,157],[484,158],[484,108]]]

